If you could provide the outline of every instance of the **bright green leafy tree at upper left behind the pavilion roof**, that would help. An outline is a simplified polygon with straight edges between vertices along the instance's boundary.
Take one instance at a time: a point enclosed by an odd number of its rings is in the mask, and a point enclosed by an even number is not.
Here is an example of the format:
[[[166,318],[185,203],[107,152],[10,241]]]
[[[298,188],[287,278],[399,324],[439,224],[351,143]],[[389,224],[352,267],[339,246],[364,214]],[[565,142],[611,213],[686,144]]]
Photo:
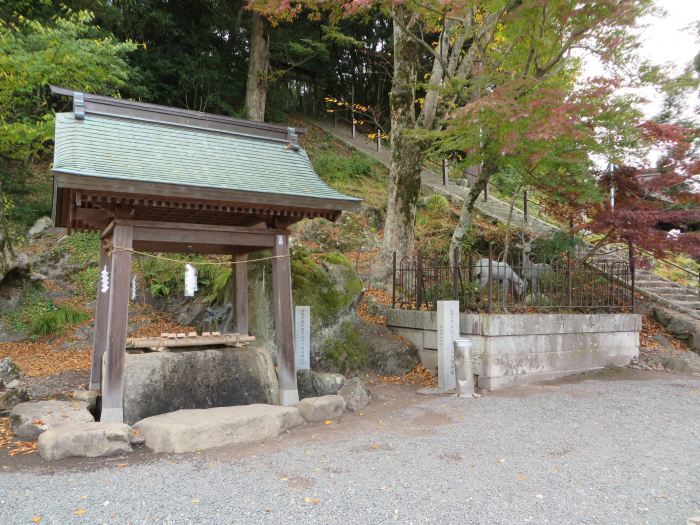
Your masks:
[[[129,78],[124,57],[135,49],[92,25],[81,11],[50,22],[0,20],[0,159],[30,161],[53,137],[48,86],[116,94]]]

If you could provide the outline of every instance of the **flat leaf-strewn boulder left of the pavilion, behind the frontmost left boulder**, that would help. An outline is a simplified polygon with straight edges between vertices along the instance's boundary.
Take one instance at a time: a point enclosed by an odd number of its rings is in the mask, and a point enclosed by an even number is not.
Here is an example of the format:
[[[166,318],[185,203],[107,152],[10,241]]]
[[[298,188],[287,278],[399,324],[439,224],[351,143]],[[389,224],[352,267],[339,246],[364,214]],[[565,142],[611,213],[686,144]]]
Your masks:
[[[49,428],[95,421],[83,401],[20,403],[10,413],[10,429],[17,438],[36,439]]]

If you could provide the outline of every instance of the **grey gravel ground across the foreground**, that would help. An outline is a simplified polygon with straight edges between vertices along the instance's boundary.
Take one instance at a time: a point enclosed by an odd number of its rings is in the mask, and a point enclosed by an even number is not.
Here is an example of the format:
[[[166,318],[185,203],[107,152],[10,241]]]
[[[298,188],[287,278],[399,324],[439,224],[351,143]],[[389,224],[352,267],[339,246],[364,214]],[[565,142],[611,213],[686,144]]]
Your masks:
[[[193,455],[0,461],[0,523],[685,524],[700,378],[627,370],[480,399],[380,387],[363,415]],[[128,466],[126,464],[128,463]]]

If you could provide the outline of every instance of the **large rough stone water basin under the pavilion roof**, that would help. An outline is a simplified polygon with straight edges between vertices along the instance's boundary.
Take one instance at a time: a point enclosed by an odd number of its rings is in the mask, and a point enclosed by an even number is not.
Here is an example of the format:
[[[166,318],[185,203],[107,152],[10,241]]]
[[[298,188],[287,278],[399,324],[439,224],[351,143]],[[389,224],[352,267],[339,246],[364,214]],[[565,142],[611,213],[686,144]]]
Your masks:
[[[127,354],[124,422],[181,409],[276,404],[279,385],[265,348]]]

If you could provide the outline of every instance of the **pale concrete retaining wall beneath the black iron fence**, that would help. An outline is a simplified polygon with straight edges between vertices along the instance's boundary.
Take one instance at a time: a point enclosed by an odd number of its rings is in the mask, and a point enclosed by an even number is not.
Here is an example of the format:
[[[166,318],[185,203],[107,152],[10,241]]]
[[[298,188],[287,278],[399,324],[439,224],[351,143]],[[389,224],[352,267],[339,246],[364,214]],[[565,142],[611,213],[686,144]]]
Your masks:
[[[436,312],[390,310],[387,325],[437,368]],[[626,365],[639,355],[641,329],[633,314],[460,314],[478,384],[488,390]]]

